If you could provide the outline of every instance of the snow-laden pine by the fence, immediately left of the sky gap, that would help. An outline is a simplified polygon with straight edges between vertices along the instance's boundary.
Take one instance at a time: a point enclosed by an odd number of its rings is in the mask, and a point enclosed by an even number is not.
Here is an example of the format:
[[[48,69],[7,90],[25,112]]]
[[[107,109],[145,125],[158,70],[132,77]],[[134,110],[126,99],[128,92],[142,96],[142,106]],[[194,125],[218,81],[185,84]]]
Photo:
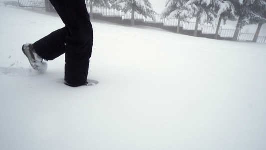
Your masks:
[[[153,10],[149,0],[111,0],[111,3],[111,7],[118,10],[122,10],[124,12],[131,10],[131,25],[135,24],[135,12],[140,13],[145,17],[149,16],[154,21],[156,20],[154,15],[155,11]]]

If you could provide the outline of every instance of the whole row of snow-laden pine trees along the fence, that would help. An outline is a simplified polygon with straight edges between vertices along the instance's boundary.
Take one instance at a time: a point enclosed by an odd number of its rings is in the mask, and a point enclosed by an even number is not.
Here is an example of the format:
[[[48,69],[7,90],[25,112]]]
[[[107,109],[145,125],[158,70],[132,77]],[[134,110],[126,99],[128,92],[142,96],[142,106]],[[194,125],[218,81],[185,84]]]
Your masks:
[[[134,12],[155,21],[156,12],[149,0],[86,0],[90,7],[106,6],[124,12],[131,11],[131,25],[134,25]],[[215,39],[218,38],[219,27],[227,20],[237,21],[233,40],[237,40],[240,30],[247,24],[258,24],[253,41],[256,42],[261,27],[266,23],[266,0],[166,0],[161,17],[178,18],[177,32],[179,33],[180,20],[189,22],[196,18],[194,36],[197,36],[198,24],[210,23],[215,25],[218,19]]]

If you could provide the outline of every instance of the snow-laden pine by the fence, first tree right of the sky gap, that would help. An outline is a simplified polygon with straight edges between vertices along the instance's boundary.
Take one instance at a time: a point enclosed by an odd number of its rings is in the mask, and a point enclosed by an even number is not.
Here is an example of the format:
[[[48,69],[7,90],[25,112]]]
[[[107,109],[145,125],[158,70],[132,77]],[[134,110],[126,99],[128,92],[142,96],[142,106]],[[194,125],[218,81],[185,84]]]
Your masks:
[[[167,0],[165,8],[162,11],[161,18],[175,17],[178,18],[177,33],[180,29],[180,20],[189,22],[189,18],[192,18],[192,11],[188,11],[185,8],[185,4],[188,0]]]

